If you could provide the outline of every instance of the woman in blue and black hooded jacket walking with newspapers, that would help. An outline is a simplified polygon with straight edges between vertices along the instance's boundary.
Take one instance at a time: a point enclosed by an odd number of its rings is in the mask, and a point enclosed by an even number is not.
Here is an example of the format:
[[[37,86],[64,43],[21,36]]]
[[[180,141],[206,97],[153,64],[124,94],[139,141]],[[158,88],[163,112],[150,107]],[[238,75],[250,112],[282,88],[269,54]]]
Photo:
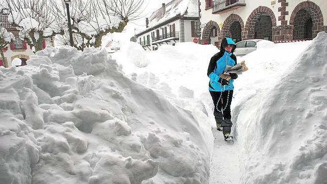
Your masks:
[[[217,130],[222,131],[225,141],[233,140],[231,136],[231,103],[233,99],[233,81],[238,77],[235,73],[229,73],[231,79],[228,81],[219,77],[224,73],[226,66],[235,66],[236,56],[233,54],[236,49],[235,42],[231,38],[223,38],[220,51],[210,59],[208,67],[209,91],[215,105],[214,116]]]

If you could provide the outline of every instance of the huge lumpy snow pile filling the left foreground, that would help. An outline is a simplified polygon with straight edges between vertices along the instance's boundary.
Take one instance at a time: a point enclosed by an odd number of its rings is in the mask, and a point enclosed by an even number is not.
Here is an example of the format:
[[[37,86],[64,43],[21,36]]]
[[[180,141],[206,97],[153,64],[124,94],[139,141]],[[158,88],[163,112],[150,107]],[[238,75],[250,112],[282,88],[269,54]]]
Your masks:
[[[210,127],[105,51],[47,47],[0,68],[2,183],[208,183]]]

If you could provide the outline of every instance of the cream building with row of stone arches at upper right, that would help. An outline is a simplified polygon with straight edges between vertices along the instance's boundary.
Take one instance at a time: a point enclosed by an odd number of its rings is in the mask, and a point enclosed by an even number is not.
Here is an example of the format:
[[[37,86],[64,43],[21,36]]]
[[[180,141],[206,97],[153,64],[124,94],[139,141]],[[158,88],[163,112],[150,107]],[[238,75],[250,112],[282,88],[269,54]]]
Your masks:
[[[326,0],[202,0],[201,43],[306,40],[327,30]]]

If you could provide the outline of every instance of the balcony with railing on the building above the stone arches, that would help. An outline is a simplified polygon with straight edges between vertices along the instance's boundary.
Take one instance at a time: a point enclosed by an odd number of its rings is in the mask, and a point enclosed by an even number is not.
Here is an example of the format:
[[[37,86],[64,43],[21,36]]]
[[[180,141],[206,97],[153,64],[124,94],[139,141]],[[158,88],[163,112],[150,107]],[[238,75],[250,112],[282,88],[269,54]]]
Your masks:
[[[212,2],[212,14],[220,14],[246,6],[245,0],[216,0]]]

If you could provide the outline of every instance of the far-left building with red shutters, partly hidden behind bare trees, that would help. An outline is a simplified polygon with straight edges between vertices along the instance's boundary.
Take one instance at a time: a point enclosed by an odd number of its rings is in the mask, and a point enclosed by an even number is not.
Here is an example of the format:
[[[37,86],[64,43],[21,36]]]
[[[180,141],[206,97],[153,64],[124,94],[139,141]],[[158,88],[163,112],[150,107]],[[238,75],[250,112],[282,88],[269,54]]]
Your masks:
[[[2,26],[5,27],[8,32],[11,32],[15,35],[15,37],[18,37],[18,30],[11,26],[8,22],[8,9],[2,9],[0,12],[0,22],[2,23]],[[46,45],[52,45],[53,46],[53,38],[47,38],[43,40],[42,49],[45,48]],[[16,39],[12,41],[8,46],[3,49],[5,60],[2,59],[0,56],[0,66],[6,66],[11,67],[12,60],[14,58],[20,58],[22,60],[22,66],[26,65],[26,60],[29,59],[30,55],[35,55],[35,53],[32,50],[32,47],[27,45],[25,41]]]

